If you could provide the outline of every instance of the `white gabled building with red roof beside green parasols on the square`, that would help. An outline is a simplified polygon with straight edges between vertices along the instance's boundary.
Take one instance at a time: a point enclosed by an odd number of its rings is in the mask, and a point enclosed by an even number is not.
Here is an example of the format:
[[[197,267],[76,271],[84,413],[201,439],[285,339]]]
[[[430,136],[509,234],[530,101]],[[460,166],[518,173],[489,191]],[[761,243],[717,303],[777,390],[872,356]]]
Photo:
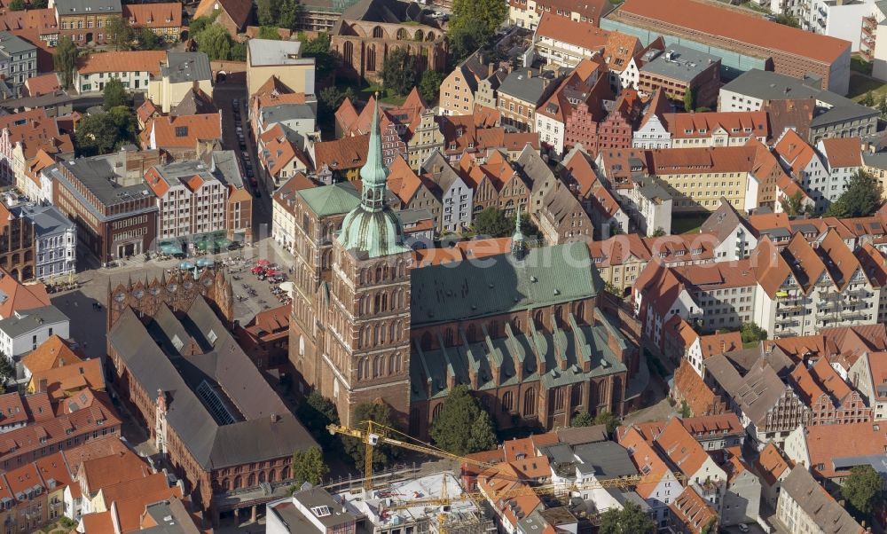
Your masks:
[[[202,162],[154,166],[145,173],[145,183],[157,197],[159,239],[224,232],[228,188]]]

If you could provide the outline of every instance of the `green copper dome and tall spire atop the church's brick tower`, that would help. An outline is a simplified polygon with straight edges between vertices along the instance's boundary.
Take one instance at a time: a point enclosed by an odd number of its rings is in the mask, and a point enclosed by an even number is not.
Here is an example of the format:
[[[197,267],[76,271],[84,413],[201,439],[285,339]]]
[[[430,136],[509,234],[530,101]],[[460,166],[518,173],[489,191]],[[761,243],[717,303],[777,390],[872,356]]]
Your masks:
[[[366,163],[360,169],[363,183],[360,204],[345,216],[339,232],[339,243],[345,249],[365,252],[371,258],[409,250],[404,246],[404,228],[400,219],[385,204],[388,174],[382,162],[379,105],[376,104]]]

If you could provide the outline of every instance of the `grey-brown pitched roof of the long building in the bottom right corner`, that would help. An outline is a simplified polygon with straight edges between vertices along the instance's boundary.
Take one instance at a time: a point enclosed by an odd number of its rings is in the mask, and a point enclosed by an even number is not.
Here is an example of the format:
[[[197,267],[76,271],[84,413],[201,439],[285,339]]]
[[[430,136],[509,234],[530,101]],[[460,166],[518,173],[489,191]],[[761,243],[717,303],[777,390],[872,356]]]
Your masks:
[[[829,534],[858,534],[860,523],[832,499],[804,466],[791,470],[782,481],[782,492],[787,493],[814,524],[827,526]]]

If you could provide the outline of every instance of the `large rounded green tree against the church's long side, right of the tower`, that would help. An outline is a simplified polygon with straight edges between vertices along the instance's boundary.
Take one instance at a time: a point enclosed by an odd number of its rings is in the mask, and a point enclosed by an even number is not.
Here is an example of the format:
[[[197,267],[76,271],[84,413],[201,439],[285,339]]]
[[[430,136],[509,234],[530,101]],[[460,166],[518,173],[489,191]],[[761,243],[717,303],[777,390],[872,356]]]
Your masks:
[[[489,451],[498,445],[490,414],[465,384],[450,390],[440,415],[431,423],[430,434],[438,447],[459,456]]]

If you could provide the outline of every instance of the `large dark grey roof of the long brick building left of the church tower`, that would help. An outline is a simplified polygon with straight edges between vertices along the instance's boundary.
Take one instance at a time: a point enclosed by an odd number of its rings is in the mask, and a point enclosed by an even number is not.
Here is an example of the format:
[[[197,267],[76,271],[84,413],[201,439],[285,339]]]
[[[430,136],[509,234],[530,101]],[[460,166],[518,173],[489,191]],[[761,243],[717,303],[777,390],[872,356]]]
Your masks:
[[[169,349],[172,336],[209,350],[180,356]],[[181,318],[164,306],[149,327],[127,309],[108,340],[145,391],[165,392],[167,421],[202,467],[280,458],[316,445],[204,299],[198,297]],[[235,412],[234,422],[216,421],[195,393],[199,381]],[[272,421],[272,415],[278,420]]]

